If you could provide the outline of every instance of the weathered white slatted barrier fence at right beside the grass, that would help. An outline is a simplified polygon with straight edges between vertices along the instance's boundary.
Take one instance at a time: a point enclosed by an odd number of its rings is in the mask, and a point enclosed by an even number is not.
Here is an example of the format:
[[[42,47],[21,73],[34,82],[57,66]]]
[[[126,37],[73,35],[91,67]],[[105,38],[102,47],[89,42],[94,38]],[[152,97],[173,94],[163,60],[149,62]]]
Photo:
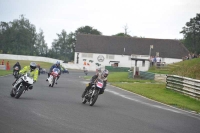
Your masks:
[[[166,82],[166,88],[200,99],[200,80],[176,75],[167,75]]]

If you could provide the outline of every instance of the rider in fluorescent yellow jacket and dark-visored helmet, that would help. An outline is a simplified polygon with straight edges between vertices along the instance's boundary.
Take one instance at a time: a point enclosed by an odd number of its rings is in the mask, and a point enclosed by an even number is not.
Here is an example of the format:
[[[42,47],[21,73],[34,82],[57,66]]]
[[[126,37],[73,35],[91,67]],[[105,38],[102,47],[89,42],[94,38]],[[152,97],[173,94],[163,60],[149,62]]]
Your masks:
[[[25,66],[22,70],[19,71],[19,74],[22,75],[26,72],[30,72],[31,77],[33,77],[33,83],[35,83],[38,79],[38,70],[36,69],[37,65],[35,62],[31,62],[30,66]],[[19,78],[18,78],[19,79]],[[16,81],[13,83],[13,87],[16,89],[17,85],[19,85],[21,82],[20,80],[16,79]],[[30,85],[29,89],[33,89],[33,86]]]

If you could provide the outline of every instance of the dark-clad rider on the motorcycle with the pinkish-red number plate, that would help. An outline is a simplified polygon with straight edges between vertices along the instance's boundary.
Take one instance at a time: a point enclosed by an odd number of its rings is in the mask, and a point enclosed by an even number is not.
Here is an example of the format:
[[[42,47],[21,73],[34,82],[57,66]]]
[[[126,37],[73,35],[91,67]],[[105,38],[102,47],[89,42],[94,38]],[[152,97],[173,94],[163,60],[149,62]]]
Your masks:
[[[99,78],[103,80],[103,88],[101,89],[101,91],[99,92],[99,94],[103,94],[104,90],[106,88],[106,84],[107,84],[107,77],[109,75],[109,71],[107,69],[103,70],[102,72],[100,71],[100,69],[97,69],[97,73],[92,77],[92,79],[90,80],[89,85],[85,88],[85,91],[88,91],[91,87],[92,87],[92,83],[94,83],[94,81]],[[83,93],[84,94],[84,93]],[[82,96],[83,97],[83,96]]]

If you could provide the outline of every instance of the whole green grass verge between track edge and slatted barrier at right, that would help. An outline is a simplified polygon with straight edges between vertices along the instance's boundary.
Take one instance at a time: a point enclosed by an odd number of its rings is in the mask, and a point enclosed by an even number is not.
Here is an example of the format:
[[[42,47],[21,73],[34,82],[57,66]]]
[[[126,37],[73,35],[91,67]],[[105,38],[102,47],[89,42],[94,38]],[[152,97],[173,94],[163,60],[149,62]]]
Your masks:
[[[162,102],[177,108],[200,113],[200,101],[166,89],[166,83],[154,80],[129,79],[128,72],[111,72],[108,77],[111,85],[134,92],[144,97]]]

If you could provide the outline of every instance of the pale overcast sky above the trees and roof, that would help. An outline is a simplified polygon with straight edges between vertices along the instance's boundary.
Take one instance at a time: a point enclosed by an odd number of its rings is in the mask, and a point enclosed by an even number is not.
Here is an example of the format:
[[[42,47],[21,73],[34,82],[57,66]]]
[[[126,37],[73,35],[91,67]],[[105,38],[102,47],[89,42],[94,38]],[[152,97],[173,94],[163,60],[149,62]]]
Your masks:
[[[145,38],[181,39],[179,32],[200,13],[200,0],[0,0],[0,21],[21,14],[42,29],[49,48],[56,33],[91,26],[103,35],[124,32]]]

